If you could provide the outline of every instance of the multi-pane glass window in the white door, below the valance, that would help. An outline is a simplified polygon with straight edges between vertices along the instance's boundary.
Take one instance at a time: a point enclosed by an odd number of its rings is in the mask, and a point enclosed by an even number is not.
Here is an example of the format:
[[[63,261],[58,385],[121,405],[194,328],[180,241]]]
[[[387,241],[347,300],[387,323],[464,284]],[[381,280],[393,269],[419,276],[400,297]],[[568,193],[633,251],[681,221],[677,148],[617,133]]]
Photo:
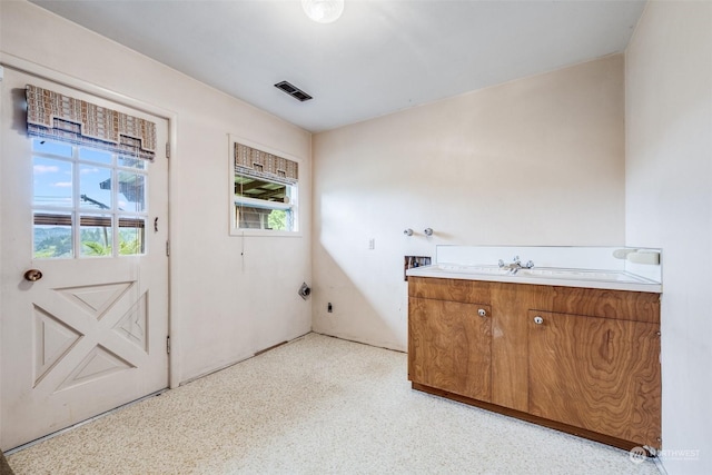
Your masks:
[[[32,139],[33,257],[147,254],[147,160]]]

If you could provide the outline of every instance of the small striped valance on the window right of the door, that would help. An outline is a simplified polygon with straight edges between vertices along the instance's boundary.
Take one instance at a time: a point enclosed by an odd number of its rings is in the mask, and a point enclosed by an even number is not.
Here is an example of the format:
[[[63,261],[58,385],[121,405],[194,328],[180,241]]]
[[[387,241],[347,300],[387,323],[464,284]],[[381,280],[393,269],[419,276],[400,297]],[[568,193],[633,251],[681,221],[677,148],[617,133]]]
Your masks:
[[[237,142],[235,171],[286,185],[295,185],[299,179],[299,164],[296,161]]]

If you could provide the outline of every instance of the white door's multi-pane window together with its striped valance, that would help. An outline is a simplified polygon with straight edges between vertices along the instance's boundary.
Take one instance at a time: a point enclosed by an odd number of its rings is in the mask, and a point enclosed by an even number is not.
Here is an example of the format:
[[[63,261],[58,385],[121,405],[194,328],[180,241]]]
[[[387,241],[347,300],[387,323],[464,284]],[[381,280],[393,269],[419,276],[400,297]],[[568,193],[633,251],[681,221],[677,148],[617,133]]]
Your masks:
[[[33,257],[147,253],[156,123],[27,86],[33,167]]]

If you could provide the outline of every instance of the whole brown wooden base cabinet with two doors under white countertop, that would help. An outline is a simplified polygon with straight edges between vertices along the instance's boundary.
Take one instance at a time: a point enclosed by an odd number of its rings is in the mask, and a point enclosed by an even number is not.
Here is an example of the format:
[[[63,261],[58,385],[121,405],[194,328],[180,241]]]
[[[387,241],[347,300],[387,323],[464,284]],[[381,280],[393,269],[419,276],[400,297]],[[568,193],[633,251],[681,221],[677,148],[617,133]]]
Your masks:
[[[657,294],[412,276],[408,295],[414,388],[660,448]]]

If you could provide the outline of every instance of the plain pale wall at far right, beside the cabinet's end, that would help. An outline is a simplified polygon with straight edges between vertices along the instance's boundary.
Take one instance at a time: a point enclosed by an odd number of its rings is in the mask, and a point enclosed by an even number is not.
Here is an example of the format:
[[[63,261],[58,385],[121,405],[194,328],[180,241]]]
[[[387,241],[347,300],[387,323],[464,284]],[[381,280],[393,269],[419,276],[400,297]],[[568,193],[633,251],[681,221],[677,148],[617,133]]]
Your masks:
[[[663,248],[661,458],[709,474],[712,2],[649,3],[626,51],[626,239]]]

